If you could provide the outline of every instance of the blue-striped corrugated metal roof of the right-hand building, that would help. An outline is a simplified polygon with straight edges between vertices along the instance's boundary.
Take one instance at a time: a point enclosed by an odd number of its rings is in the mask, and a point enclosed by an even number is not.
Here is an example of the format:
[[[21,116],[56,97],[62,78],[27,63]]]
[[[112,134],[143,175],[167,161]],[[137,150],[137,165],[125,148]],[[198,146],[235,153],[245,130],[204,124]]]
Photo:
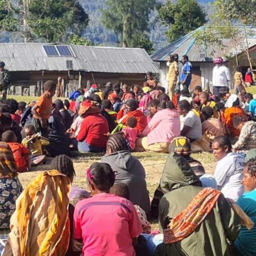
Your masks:
[[[178,40],[168,44],[162,49],[155,52],[151,57],[154,61],[167,61],[167,58],[170,54],[177,53],[181,58],[182,55],[187,55],[191,62],[203,62],[205,61],[204,56],[208,57],[211,61],[212,58],[217,56],[222,56],[225,59],[225,56],[233,57],[235,54],[234,47],[232,45],[231,40],[224,39],[222,44],[225,45],[225,49],[221,49],[219,46],[214,44],[207,44],[207,48],[204,48],[203,44],[196,44],[196,40],[194,38],[194,33],[196,31],[203,30],[203,26],[199,27],[195,31],[182,36]],[[255,28],[249,28],[250,31],[256,34]],[[248,38],[249,47],[256,45],[256,37],[250,36]],[[245,44],[245,39],[238,38],[238,49],[237,53],[242,52],[242,45]],[[239,46],[240,45],[240,46]]]

